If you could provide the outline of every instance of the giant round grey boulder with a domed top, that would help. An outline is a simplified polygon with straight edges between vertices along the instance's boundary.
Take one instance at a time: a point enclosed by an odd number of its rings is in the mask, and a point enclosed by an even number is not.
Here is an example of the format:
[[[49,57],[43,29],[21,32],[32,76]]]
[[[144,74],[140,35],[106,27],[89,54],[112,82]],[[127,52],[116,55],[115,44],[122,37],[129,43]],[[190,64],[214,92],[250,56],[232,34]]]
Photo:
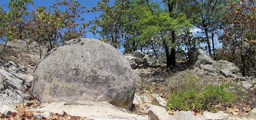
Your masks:
[[[33,96],[43,103],[107,101],[129,108],[134,93],[134,74],[126,58],[90,38],[66,41],[46,54],[32,84]]]

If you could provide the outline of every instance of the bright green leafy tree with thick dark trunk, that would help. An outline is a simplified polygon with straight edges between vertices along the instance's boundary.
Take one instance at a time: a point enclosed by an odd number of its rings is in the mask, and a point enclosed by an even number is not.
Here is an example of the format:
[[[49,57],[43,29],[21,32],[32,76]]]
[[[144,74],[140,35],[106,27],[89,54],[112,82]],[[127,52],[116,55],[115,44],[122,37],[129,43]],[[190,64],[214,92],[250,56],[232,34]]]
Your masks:
[[[174,4],[169,3],[170,1],[168,1],[168,5]],[[142,29],[141,42],[153,43],[154,41],[154,43],[160,44],[166,54],[167,68],[176,64],[175,50],[177,43],[175,31],[191,27],[190,21],[186,19],[186,15],[182,13],[174,14],[171,7],[173,6],[168,7],[168,12],[150,8],[138,19],[138,26]]]

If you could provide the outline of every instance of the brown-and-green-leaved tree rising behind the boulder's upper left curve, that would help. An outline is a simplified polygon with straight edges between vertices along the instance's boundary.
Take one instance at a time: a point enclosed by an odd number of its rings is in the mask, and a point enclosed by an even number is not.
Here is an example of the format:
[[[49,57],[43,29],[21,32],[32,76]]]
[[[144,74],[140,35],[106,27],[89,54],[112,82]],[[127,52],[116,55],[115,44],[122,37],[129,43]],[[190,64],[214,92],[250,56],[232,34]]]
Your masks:
[[[62,11],[59,8],[66,9]],[[82,22],[84,17],[80,17],[86,12],[84,8],[74,0],[57,1],[48,10],[46,6],[40,6],[32,11],[32,20],[26,25],[26,29],[31,32],[31,39],[39,45],[49,43],[48,50],[51,50],[58,43],[84,36],[84,29],[88,26]]]

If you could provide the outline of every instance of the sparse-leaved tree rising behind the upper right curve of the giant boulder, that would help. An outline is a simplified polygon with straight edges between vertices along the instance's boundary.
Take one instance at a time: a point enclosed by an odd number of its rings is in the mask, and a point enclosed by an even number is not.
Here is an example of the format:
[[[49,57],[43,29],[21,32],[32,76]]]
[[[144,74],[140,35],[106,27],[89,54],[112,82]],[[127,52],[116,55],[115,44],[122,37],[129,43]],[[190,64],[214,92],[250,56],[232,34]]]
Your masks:
[[[98,6],[95,6],[92,10],[102,11],[99,17],[95,17],[94,20],[89,21],[92,25],[90,31],[92,33],[100,33],[100,36],[110,45],[115,48],[120,48],[124,37],[123,25],[126,18],[124,14],[127,13],[127,6],[130,4],[130,0],[116,0],[112,6],[108,5],[109,0],[102,0],[98,2]],[[101,27],[101,30],[96,27]]]

